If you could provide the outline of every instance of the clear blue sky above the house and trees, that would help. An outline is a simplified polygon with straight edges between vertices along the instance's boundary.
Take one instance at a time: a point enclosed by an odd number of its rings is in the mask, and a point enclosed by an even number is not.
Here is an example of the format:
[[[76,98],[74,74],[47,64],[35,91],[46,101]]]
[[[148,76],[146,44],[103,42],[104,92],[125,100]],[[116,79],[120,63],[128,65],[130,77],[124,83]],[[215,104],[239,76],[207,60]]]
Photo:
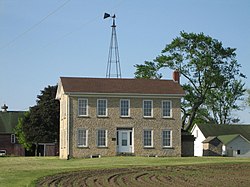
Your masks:
[[[105,12],[116,14],[123,78],[181,31],[203,32],[237,48],[250,88],[249,0],[0,0],[0,105],[28,110],[61,76],[105,77],[112,24]],[[234,115],[250,123],[249,112]]]

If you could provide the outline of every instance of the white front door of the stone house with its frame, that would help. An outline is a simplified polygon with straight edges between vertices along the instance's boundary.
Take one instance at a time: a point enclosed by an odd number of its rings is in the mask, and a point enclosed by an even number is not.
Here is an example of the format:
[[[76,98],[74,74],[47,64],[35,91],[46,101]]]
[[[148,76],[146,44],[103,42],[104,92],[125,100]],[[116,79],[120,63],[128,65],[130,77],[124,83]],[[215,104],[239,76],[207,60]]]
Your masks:
[[[118,130],[118,152],[119,153],[132,153],[133,137],[132,130]]]

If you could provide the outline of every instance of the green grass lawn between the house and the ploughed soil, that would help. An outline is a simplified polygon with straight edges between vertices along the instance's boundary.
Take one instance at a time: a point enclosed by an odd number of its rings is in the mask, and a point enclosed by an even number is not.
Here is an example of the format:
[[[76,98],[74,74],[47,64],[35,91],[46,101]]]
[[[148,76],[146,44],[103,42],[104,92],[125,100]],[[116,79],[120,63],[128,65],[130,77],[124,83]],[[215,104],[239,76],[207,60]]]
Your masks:
[[[246,163],[250,167],[250,158],[103,157],[60,160],[57,157],[0,157],[0,186],[34,186],[38,178],[73,170],[213,163]]]

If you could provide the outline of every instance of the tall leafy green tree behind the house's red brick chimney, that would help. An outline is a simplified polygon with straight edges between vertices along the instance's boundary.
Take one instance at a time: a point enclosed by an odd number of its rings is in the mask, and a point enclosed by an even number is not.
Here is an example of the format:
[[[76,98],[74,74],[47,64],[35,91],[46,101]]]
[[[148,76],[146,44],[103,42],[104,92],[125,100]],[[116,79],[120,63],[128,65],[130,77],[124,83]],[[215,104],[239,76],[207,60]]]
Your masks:
[[[235,51],[204,33],[183,31],[153,62],[137,64],[135,77],[161,78],[162,68],[178,70],[187,81],[183,84],[186,91],[182,103],[183,128],[189,129],[198,116],[225,123],[244,92],[240,81],[244,75],[240,73]],[[234,87],[236,94],[230,93]],[[221,119],[217,120],[218,117]]]

